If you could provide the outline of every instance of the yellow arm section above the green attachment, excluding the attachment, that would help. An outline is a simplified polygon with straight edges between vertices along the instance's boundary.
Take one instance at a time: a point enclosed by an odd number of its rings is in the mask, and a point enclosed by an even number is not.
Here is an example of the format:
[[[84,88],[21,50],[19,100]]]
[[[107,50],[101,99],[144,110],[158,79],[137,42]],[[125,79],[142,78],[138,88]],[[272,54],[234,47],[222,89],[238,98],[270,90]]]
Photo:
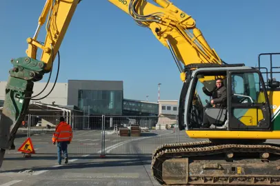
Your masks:
[[[32,59],[37,59],[37,49],[41,49],[42,54],[40,61],[45,63],[43,68],[45,72],[50,72],[52,69],[52,63],[57,56],[68,25],[80,1],[81,0],[47,0],[41,12],[41,16],[39,17],[38,27],[34,36],[27,39],[28,50],[26,50],[26,54]],[[44,43],[41,43],[37,39],[45,23],[46,38]]]

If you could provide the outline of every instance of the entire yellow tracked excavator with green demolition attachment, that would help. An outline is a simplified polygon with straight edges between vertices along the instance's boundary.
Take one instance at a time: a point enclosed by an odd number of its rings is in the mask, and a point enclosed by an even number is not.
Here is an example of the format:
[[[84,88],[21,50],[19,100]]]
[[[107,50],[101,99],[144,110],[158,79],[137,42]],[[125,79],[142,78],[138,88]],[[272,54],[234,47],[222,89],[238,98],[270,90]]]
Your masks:
[[[27,39],[27,56],[12,59],[0,121],[0,166],[28,112],[35,81],[52,72],[52,64],[81,0],[47,0],[33,37]],[[161,185],[280,185],[280,138],[277,100],[279,81],[270,68],[228,64],[210,48],[194,19],[167,0],[108,0],[134,21],[149,28],[170,50],[183,87],[179,98],[179,129],[190,138],[208,141],[161,145],[152,154],[152,175]],[[46,23],[46,40],[37,40]],[[42,50],[37,59],[37,50]],[[266,66],[268,66],[266,64]],[[265,70],[266,72],[263,72]],[[263,76],[266,74],[266,76]],[[266,81],[265,78],[266,77]],[[213,90],[223,79],[227,101],[214,107],[203,90]],[[41,93],[41,92],[40,92]],[[40,94],[39,93],[39,94]],[[50,93],[49,93],[50,94]],[[47,94],[48,96],[48,94]],[[207,117],[210,125],[203,125]]]

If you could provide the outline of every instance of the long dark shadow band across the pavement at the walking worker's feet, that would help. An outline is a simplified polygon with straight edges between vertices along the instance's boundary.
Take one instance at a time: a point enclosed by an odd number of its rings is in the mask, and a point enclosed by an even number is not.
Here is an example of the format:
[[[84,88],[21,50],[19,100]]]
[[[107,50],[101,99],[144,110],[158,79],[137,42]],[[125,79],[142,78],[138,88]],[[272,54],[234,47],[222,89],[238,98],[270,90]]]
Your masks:
[[[45,157],[46,158],[46,157]],[[56,157],[50,157],[56,163]],[[69,160],[73,158],[78,158],[75,156],[69,157]],[[92,158],[97,159],[97,157],[80,157],[81,158]],[[98,157],[99,158],[99,157]],[[119,160],[120,158],[127,158],[127,160]],[[138,165],[150,165],[151,157],[150,156],[115,156],[111,158],[103,158],[104,161],[101,162],[90,162],[90,163],[68,163],[67,165],[63,165],[61,167],[32,167],[32,171],[40,171],[40,170],[57,170],[57,169],[85,169],[85,168],[94,168],[94,167],[121,167],[121,166],[138,166]],[[108,161],[106,161],[108,159]],[[117,160],[116,160],[117,159]],[[0,173],[5,172],[23,172],[26,169],[13,169],[13,170],[5,170],[0,171]]]

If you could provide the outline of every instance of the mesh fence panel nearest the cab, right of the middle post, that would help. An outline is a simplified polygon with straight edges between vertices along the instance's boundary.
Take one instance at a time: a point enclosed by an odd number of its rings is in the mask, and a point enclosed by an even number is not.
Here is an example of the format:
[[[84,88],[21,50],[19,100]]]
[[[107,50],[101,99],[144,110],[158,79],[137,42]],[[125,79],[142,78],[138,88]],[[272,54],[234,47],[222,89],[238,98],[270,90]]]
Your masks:
[[[177,116],[105,116],[104,153],[152,154],[160,145],[177,143],[176,124]]]

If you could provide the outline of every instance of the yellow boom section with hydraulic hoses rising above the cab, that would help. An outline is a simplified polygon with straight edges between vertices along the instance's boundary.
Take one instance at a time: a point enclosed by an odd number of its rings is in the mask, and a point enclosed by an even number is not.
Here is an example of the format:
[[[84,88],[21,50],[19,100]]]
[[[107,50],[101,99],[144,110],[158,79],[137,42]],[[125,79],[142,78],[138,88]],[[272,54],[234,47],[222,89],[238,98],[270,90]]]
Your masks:
[[[130,14],[139,25],[150,28],[163,45],[169,49],[172,48],[174,55],[183,65],[221,64],[219,56],[210,48],[200,30],[196,28],[194,19],[169,1],[154,0],[161,7],[154,6],[146,0],[108,1]]]

